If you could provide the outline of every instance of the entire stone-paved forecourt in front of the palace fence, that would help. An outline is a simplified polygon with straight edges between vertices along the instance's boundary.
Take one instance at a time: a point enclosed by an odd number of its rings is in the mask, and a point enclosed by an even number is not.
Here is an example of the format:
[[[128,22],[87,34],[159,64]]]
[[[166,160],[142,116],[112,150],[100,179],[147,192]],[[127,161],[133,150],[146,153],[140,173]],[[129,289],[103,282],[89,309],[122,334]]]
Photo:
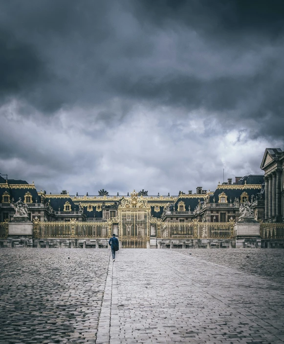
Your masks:
[[[284,250],[0,257],[0,344],[284,343]]]

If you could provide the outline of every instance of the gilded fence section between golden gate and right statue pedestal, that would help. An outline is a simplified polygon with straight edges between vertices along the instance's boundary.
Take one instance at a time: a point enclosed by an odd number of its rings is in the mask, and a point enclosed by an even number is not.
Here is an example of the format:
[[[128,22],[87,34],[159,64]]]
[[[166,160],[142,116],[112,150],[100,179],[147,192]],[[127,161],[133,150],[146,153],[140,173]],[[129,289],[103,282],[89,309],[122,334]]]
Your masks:
[[[229,239],[234,237],[235,222],[169,221],[161,224],[161,238]]]

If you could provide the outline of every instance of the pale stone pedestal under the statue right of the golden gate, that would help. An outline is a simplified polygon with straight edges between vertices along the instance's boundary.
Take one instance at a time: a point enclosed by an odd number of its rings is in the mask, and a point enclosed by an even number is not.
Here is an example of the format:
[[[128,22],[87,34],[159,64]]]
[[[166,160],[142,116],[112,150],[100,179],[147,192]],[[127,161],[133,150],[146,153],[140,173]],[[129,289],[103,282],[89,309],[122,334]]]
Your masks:
[[[253,217],[241,217],[234,225],[236,248],[260,248],[260,223]]]

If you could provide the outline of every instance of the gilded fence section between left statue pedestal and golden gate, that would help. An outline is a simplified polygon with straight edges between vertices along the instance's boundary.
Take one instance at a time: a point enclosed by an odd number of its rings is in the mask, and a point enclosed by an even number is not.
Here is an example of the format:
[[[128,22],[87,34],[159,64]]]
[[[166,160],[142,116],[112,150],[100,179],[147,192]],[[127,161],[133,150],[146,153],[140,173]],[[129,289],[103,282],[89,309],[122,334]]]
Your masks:
[[[34,220],[36,238],[109,238],[109,222],[40,222]]]

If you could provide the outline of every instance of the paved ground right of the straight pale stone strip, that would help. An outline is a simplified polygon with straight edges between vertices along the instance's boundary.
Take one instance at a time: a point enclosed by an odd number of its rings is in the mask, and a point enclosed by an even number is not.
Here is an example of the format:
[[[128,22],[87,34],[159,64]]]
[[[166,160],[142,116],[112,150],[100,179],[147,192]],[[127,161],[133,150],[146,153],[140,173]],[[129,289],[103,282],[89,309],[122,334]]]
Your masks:
[[[284,252],[236,251],[122,250],[110,343],[284,343],[283,273],[254,271],[279,272]]]

